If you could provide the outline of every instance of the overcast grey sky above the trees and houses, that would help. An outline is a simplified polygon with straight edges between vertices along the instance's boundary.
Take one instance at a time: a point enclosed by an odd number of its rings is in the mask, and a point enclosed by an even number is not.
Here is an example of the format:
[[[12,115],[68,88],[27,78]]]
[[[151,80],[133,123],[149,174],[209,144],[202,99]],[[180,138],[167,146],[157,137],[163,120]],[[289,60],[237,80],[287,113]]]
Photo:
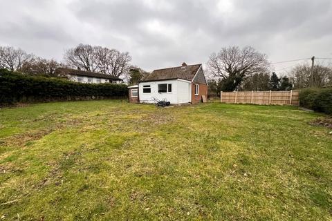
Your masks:
[[[332,57],[331,23],[331,0],[1,0],[0,45],[59,61],[80,43],[106,46],[145,70],[205,64],[232,45],[275,62]]]

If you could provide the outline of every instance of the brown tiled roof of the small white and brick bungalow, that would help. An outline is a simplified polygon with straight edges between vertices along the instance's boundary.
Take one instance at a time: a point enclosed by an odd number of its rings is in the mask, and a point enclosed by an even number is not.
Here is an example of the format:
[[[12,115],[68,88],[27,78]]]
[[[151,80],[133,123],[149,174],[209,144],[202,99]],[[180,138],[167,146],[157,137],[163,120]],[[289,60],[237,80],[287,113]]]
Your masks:
[[[200,67],[201,64],[187,65],[184,63],[182,66],[178,67],[157,69],[147,75],[141,82],[167,79],[185,79],[192,81]]]

